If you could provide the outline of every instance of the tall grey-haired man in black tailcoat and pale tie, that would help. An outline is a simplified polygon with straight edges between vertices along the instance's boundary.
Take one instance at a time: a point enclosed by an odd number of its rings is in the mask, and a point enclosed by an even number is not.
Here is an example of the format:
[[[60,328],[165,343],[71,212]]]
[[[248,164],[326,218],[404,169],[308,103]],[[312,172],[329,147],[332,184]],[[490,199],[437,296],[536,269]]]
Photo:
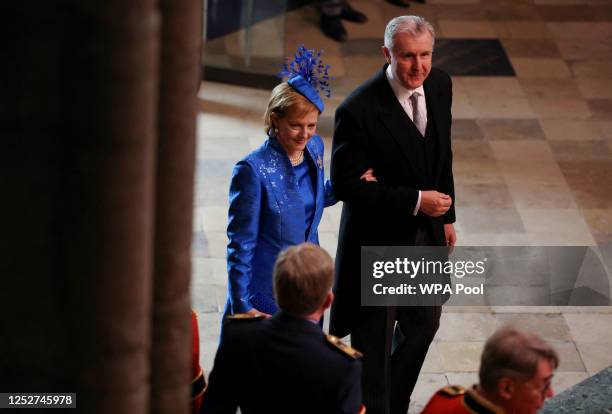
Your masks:
[[[441,307],[362,307],[360,247],[456,240],[451,79],[432,68],[433,44],[434,30],[423,18],[391,20],[387,64],[336,111],[331,178],[344,207],[330,332],[350,333],[365,355],[368,413],[406,413]],[[377,181],[360,180],[370,167]]]

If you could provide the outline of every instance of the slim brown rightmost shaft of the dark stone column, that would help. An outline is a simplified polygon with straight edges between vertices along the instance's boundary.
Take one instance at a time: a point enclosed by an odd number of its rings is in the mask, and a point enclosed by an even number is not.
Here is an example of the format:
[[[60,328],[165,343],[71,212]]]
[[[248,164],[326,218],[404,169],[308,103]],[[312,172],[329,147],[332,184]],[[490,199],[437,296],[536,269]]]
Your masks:
[[[188,413],[201,2],[161,0],[151,412]],[[187,381],[186,381],[187,380]]]

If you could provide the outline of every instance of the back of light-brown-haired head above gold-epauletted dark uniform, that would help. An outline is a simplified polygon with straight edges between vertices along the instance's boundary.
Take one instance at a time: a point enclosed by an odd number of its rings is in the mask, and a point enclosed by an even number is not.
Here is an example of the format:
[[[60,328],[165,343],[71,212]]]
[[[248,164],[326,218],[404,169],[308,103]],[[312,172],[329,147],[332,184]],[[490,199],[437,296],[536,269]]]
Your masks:
[[[281,252],[274,265],[274,294],[284,312],[304,317],[329,306],[333,298],[334,263],[330,255],[312,243]]]

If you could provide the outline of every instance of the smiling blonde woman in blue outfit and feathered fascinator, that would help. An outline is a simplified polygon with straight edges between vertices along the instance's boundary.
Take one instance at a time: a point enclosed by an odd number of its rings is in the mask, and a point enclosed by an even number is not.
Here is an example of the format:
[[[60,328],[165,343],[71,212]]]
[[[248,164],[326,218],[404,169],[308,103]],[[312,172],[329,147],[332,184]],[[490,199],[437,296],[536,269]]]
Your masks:
[[[239,161],[232,175],[227,235],[228,300],[225,314],[272,315],[274,261],[287,247],[319,243],[323,208],[336,203],[323,172],[323,140],[316,135],[329,97],[328,66],[320,53],[298,49],[285,65],[264,115],[267,140]],[[373,179],[371,170],[364,179]]]

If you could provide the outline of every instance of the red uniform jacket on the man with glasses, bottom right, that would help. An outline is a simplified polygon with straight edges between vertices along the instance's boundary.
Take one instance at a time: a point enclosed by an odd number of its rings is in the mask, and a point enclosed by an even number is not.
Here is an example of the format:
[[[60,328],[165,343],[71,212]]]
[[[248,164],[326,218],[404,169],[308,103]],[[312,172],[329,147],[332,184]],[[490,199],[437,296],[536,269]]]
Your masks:
[[[504,410],[475,390],[450,385],[439,390],[421,414],[504,414]]]

